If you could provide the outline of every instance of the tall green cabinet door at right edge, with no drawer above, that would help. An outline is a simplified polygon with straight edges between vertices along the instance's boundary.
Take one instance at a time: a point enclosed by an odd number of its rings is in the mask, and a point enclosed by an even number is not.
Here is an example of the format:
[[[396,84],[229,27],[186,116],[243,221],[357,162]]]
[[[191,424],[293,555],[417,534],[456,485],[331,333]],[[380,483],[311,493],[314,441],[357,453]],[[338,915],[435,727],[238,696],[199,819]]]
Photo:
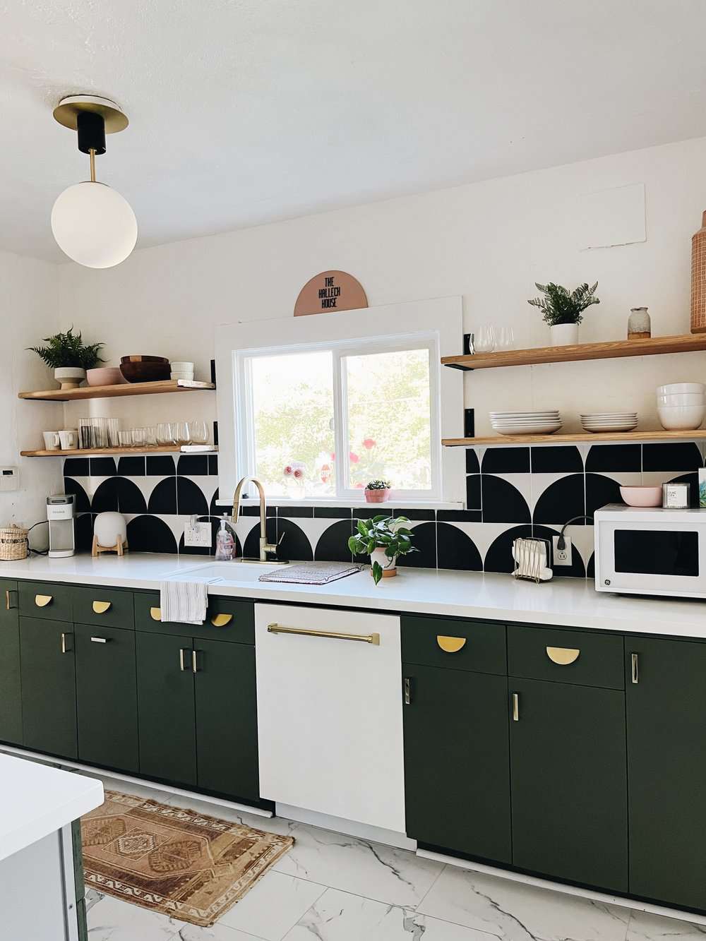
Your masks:
[[[626,637],[625,653],[630,893],[704,909],[706,645]]]

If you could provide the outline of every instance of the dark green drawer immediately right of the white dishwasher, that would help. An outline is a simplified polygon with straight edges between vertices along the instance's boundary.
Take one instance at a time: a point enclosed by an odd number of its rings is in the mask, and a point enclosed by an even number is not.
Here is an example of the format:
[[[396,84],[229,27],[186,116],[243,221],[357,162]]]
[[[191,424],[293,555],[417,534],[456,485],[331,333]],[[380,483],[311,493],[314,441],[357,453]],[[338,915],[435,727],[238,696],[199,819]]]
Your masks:
[[[403,615],[402,660],[505,676],[505,624]]]

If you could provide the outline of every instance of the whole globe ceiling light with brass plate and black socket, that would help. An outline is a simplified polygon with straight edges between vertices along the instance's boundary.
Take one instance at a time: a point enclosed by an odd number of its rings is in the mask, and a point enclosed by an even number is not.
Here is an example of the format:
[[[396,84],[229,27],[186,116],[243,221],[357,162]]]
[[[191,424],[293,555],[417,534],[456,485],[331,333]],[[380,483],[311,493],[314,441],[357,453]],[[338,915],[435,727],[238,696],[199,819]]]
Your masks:
[[[105,134],[127,127],[127,116],[107,98],[72,95],[62,99],[54,117],[78,132],[78,149],[90,157],[90,180],[74,183],[56,199],[52,231],[59,248],[88,268],[112,268],[124,262],[137,241],[137,220],[130,203],[96,181],[96,154],[105,152]]]

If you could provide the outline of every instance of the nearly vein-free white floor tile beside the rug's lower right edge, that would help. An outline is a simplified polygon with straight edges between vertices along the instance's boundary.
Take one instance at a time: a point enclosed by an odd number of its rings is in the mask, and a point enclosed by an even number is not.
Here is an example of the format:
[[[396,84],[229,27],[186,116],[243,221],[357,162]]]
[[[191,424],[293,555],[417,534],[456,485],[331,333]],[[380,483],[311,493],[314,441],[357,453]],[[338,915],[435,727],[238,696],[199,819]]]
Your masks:
[[[281,941],[326,888],[270,871],[220,917],[218,924],[255,934],[264,941]]]

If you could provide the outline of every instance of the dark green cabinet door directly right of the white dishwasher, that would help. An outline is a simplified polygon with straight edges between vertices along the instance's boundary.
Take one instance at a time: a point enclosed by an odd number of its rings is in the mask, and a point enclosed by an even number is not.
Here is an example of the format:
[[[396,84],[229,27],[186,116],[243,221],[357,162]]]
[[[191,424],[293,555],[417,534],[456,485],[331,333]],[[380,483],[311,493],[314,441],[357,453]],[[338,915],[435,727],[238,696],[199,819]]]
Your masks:
[[[509,863],[507,679],[403,670],[408,836]]]

